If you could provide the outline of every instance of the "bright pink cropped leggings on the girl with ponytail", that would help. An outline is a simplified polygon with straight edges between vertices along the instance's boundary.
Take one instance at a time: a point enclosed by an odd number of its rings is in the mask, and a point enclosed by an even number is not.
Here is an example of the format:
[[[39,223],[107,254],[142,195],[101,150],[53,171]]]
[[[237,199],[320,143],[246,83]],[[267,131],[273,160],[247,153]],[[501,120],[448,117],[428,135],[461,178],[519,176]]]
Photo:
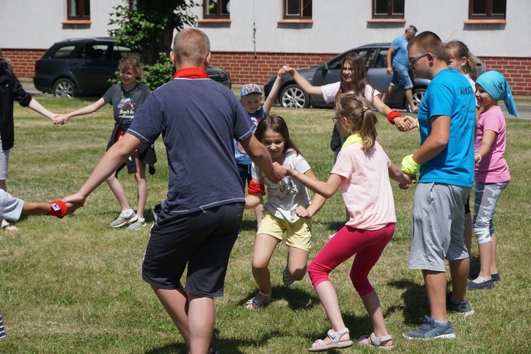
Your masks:
[[[360,296],[372,292],[367,275],[382,255],[394,234],[394,223],[379,230],[362,230],[345,226],[317,253],[308,266],[314,288],[329,281],[330,272],[348,258],[356,255],[350,268],[350,280]],[[356,254],[357,253],[357,254]]]

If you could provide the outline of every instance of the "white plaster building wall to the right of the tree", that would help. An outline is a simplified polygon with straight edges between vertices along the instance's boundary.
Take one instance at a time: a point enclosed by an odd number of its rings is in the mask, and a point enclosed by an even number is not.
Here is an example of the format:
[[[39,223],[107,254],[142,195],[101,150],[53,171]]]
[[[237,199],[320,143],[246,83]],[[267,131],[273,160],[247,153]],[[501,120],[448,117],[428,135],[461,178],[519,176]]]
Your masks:
[[[253,50],[252,28],[256,23],[259,52],[343,52],[370,42],[390,42],[404,33],[404,25],[367,23],[370,0],[313,1],[311,27],[278,25],[282,0],[232,0],[231,23],[227,28],[200,25],[210,38],[213,51]],[[194,9],[202,18],[202,8]],[[406,25],[431,30],[442,40],[462,40],[479,56],[531,57],[531,1],[507,2],[506,25],[464,25],[468,1],[408,0]]]

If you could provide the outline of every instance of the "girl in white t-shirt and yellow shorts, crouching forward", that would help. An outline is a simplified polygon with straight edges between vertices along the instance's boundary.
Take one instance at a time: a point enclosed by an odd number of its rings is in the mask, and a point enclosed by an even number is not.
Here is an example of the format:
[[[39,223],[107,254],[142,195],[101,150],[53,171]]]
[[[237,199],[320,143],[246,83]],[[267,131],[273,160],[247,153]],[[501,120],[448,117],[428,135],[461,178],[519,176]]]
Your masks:
[[[273,162],[317,181],[309,164],[290,139],[290,132],[282,117],[270,115],[264,118],[258,123],[255,135],[268,149]],[[324,198],[319,195],[310,204],[306,187],[295,178],[285,177],[279,183],[272,183],[253,164],[253,179],[249,183],[249,195],[245,198],[246,208],[256,207],[263,202],[264,185],[268,186],[268,201],[253,248],[253,278],[259,291],[246,303],[248,309],[264,307],[273,299],[268,265],[284,233],[287,234],[289,251],[282,280],[289,286],[304,277],[309,250],[312,248],[309,219],[324,205]]]

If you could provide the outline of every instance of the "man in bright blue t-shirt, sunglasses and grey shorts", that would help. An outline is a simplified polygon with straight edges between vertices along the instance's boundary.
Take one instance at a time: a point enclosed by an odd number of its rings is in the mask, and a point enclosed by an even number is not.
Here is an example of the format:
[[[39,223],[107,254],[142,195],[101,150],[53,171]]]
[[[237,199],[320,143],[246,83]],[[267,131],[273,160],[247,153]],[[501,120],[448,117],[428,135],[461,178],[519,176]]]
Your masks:
[[[448,69],[445,47],[435,33],[417,35],[408,50],[411,69],[431,80],[418,109],[421,146],[402,161],[402,171],[420,171],[408,268],[423,272],[430,316],[404,336],[454,338],[447,310],[474,313],[466,299],[469,258],[463,236],[464,204],[474,183],[474,90],[462,74]],[[452,277],[448,295],[445,258]]]

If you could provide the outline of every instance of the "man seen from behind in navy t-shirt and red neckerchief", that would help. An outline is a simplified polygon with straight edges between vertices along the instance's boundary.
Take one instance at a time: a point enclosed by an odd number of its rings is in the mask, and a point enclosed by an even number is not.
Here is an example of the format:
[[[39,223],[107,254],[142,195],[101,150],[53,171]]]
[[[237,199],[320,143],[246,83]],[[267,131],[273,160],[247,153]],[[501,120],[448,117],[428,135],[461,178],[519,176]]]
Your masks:
[[[135,149],[162,135],[169,165],[168,195],[154,207],[142,278],[152,285],[188,351],[208,353],[214,330],[213,298],[223,295],[244,212],[233,139],[273,181],[280,181],[285,170],[271,163],[234,93],[209,79],[210,41],[205,33],[181,30],[170,57],[177,70],[173,80],[149,95],[122,139],[105,153],[83,187],[64,201],[83,205]]]

